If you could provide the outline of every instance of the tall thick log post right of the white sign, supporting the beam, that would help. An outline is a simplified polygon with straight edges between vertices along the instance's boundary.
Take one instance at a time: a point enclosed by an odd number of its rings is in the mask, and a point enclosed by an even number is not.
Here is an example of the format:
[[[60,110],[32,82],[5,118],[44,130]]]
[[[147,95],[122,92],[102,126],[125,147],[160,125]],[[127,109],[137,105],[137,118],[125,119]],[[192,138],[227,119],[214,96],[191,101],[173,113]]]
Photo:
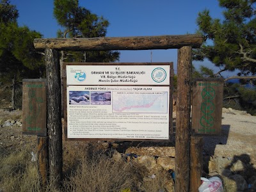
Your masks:
[[[175,191],[189,191],[192,48],[178,50]]]

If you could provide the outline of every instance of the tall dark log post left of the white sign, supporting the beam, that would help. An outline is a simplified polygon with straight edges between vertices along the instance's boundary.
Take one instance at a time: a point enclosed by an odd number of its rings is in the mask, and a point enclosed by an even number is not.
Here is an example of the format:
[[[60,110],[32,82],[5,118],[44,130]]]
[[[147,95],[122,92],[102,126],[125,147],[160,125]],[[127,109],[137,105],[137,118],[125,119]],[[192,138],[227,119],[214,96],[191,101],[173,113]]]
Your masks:
[[[50,180],[60,188],[63,175],[60,58],[55,49],[45,49],[47,77],[47,128]]]

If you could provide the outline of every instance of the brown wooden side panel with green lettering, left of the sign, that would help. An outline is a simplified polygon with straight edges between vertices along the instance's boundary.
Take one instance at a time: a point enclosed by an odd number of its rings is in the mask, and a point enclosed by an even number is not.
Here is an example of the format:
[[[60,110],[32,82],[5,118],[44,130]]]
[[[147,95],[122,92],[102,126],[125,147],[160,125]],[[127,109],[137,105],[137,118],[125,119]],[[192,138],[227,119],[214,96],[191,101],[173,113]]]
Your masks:
[[[46,79],[22,81],[22,134],[46,136]]]

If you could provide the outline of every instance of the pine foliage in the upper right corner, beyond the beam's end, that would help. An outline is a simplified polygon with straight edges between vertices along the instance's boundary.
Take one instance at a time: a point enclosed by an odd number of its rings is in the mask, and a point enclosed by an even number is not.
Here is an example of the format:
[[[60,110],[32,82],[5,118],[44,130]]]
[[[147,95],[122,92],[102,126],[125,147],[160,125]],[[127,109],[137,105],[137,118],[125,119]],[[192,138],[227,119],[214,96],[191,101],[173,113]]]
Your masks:
[[[219,0],[224,20],[212,19],[209,10],[198,13],[198,33],[207,41],[195,49],[194,59],[207,58],[225,70],[256,74],[256,1]]]

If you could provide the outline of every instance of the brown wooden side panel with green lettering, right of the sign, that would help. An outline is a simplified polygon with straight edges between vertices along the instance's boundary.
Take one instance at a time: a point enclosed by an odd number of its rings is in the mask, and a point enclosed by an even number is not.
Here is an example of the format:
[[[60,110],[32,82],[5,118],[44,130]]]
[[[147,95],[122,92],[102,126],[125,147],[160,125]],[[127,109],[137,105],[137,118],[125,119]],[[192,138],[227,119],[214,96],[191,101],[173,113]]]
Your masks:
[[[220,134],[222,78],[198,78],[193,86],[192,129],[196,134]]]

